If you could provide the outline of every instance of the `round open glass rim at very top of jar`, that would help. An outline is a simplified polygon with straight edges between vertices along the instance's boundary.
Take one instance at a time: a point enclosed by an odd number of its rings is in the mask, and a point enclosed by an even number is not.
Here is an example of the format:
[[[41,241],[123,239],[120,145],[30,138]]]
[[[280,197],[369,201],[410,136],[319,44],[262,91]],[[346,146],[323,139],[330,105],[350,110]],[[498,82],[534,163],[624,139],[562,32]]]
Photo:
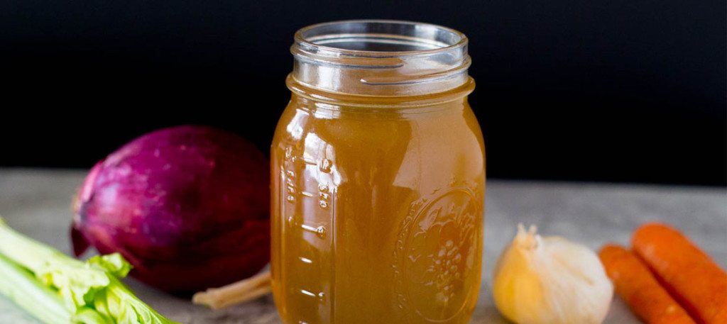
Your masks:
[[[303,50],[316,49],[322,55],[401,57],[456,51],[467,46],[467,36],[428,23],[342,20],[302,28],[295,33],[295,42]]]

